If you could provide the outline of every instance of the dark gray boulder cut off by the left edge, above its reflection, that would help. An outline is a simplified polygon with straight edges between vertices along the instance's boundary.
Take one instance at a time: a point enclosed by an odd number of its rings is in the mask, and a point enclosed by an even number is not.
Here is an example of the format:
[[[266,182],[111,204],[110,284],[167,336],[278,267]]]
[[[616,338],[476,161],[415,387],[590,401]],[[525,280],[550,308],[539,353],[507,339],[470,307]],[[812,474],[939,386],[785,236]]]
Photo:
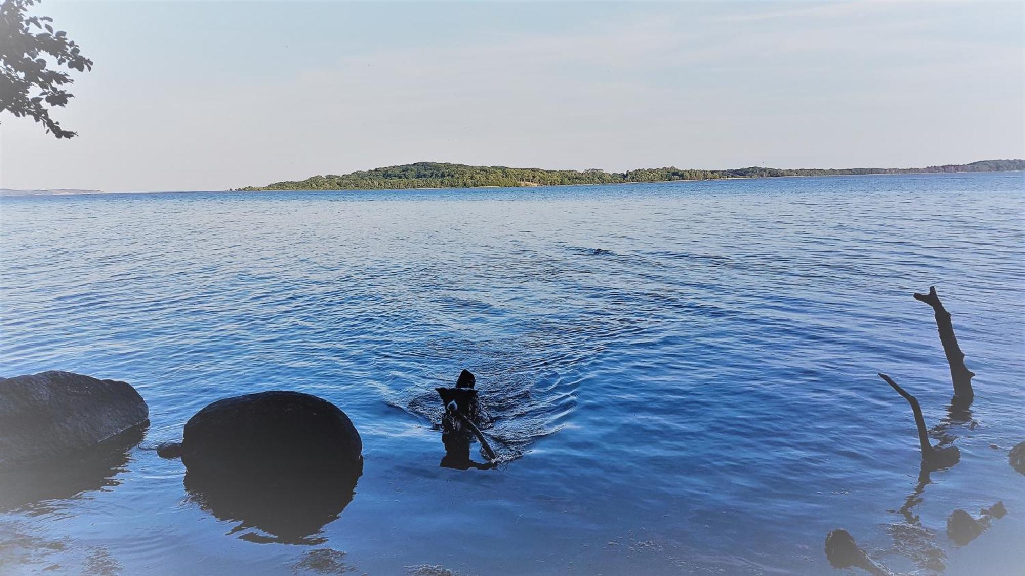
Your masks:
[[[0,378],[0,469],[79,452],[149,417],[126,382],[55,370]]]

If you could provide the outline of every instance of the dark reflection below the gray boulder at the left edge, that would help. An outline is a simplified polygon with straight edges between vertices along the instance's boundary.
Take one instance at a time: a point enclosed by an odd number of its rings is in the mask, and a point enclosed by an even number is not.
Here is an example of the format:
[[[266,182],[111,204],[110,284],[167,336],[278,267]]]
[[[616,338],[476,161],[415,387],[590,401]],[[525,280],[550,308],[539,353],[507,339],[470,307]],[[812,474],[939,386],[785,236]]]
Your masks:
[[[117,486],[116,477],[126,471],[129,452],[147,428],[137,426],[87,450],[0,471],[0,511],[46,513],[54,500]]]

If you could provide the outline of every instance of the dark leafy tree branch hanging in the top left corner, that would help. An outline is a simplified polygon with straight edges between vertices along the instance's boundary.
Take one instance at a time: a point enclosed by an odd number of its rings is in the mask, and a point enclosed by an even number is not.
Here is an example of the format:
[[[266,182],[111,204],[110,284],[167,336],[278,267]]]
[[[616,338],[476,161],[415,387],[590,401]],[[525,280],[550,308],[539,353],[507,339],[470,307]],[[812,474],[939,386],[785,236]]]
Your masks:
[[[76,132],[61,128],[50,118],[49,109],[68,104],[73,94],[61,86],[74,80],[67,72],[51,70],[49,60],[79,72],[92,70],[92,60],[79,53],[78,44],[68,33],[53,31],[52,18],[26,15],[37,2],[0,3],[0,112],[29,116],[45,126],[47,133],[70,138]]]

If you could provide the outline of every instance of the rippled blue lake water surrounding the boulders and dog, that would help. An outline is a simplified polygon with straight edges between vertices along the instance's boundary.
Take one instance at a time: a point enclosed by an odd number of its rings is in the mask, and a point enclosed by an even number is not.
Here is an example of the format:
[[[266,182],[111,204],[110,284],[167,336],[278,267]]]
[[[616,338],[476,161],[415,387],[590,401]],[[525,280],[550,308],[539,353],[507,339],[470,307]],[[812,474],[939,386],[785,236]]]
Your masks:
[[[152,424],[98,470],[8,486],[0,571],[828,574],[843,527],[894,570],[1022,573],[1023,190],[1010,172],[5,198],[0,375],[125,380]],[[968,422],[911,298],[931,284],[978,373]],[[462,368],[496,469],[439,466],[434,387]],[[960,449],[928,484],[880,371]],[[271,389],[363,436],[352,502],[300,534],[203,505],[154,451]],[[997,500],[988,532],[948,540],[953,509]]]

